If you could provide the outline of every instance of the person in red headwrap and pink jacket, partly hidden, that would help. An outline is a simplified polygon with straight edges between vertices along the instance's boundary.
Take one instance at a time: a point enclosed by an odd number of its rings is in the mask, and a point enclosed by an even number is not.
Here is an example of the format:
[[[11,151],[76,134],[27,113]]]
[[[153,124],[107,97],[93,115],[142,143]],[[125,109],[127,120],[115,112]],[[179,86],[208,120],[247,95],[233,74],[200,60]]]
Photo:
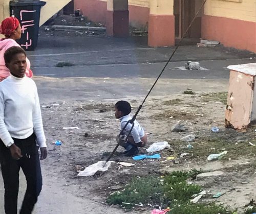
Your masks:
[[[22,36],[22,29],[17,18],[14,16],[8,17],[2,21],[0,26],[0,34],[5,35],[4,39],[0,39],[0,82],[10,76],[10,70],[5,66],[4,54],[9,47],[20,45],[15,41]],[[33,73],[30,70],[30,61],[27,60],[26,76],[32,77]]]

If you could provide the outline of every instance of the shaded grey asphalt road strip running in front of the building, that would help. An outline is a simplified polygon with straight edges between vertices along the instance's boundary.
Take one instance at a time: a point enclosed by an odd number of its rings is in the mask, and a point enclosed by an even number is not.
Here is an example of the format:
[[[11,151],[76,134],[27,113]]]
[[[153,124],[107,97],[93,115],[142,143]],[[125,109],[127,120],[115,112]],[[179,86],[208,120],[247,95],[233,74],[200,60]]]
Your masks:
[[[28,52],[32,70],[47,77],[156,78],[174,47],[148,47],[142,37],[39,37],[36,51]],[[231,64],[256,62],[255,54],[223,46],[180,46],[162,78],[228,79]],[[189,71],[176,67],[199,61],[207,70]],[[58,62],[74,66],[56,67]]]

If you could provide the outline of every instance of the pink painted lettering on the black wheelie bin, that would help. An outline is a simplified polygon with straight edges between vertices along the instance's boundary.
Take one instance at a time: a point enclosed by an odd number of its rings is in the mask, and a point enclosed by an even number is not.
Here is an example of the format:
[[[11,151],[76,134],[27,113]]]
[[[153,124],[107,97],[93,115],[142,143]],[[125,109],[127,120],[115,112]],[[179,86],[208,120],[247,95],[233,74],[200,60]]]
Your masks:
[[[20,44],[20,46],[24,46],[25,49],[27,50],[29,46],[32,45],[32,39],[29,35],[29,28],[33,28],[34,20],[26,20],[25,13],[35,13],[36,10],[21,10],[19,13],[19,18],[20,18],[20,25],[22,27],[22,34],[26,35],[26,43],[25,44]]]

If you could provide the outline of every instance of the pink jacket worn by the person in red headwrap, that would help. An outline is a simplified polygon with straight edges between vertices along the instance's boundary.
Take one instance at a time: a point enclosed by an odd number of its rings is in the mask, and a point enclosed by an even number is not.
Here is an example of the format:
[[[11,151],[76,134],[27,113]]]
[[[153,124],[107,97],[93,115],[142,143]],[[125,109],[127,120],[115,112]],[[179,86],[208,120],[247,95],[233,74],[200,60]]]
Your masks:
[[[10,70],[5,66],[4,54],[9,47],[19,46],[19,44],[13,39],[0,39],[0,79],[10,76]],[[20,47],[20,46],[19,46]],[[26,76],[32,77],[33,74],[30,70],[30,61],[27,60]]]

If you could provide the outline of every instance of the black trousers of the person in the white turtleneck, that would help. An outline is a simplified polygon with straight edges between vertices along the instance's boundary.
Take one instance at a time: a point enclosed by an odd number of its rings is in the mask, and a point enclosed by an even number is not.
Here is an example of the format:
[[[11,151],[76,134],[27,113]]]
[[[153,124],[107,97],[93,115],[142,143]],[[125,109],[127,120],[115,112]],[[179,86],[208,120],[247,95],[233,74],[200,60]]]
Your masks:
[[[42,187],[36,136],[32,134],[26,139],[13,139],[15,145],[22,150],[23,157],[19,160],[12,158],[10,149],[6,148],[3,141],[0,140],[0,163],[5,186],[5,212],[6,214],[17,214],[19,170],[22,168],[27,180],[27,190],[20,214],[30,214]]]

